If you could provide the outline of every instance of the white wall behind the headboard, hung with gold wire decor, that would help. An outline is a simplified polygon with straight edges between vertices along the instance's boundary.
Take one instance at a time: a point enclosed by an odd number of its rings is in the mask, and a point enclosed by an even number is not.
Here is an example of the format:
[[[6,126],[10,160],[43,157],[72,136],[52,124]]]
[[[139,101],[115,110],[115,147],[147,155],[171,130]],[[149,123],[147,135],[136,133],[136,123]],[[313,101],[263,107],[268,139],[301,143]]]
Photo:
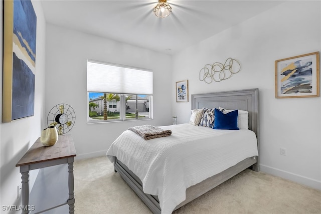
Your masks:
[[[178,122],[189,121],[191,102],[176,103],[175,82],[189,80],[191,94],[259,88],[260,169],[321,189],[321,97],[275,98],[274,61],[320,51],[318,1],[285,2],[193,45],[173,58],[172,103]],[[206,84],[199,71],[229,57],[241,71]],[[286,156],[280,155],[280,148]]]

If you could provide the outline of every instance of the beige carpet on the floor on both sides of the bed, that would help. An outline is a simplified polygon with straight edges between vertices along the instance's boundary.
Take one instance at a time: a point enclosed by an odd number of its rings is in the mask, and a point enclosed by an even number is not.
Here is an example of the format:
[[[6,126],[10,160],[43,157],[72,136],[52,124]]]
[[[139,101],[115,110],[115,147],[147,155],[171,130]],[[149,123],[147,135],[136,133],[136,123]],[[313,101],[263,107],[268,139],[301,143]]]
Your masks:
[[[152,213],[106,157],[74,164],[75,213]],[[245,170],[174,211],[188,213],[321,213],[321,191]]]

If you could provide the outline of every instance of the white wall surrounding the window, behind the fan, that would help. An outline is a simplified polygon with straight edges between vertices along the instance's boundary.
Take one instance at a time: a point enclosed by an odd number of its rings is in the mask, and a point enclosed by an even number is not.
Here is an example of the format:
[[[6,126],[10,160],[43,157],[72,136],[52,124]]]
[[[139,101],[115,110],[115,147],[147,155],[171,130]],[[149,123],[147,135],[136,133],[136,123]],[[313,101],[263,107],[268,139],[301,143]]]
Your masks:
[[[47,24],[46,112],[67,103],[76,113],[71,133],[77,156],[104,155],[111,143],[131,126],[172,122],[171,56]],[[87,124],[87,59],[153,71],[153,120]]]

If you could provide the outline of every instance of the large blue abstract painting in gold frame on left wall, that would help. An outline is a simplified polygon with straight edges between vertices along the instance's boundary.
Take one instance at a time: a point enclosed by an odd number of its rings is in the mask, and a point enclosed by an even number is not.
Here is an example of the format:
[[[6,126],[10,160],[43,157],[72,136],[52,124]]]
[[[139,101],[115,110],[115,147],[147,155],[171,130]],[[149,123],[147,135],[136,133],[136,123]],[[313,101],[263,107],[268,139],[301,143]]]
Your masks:
[[[4,1],[3,122],[34,115],[37,16],[30,0]]]

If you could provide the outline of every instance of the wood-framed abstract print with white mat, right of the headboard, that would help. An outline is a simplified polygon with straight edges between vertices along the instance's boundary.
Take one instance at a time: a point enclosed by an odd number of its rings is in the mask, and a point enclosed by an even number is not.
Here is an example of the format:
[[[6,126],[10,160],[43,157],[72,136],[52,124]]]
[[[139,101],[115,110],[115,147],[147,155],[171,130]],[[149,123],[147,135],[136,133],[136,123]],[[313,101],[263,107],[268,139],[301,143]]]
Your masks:
[[[275,98],[319,96],[319,52],[275,61]]]

